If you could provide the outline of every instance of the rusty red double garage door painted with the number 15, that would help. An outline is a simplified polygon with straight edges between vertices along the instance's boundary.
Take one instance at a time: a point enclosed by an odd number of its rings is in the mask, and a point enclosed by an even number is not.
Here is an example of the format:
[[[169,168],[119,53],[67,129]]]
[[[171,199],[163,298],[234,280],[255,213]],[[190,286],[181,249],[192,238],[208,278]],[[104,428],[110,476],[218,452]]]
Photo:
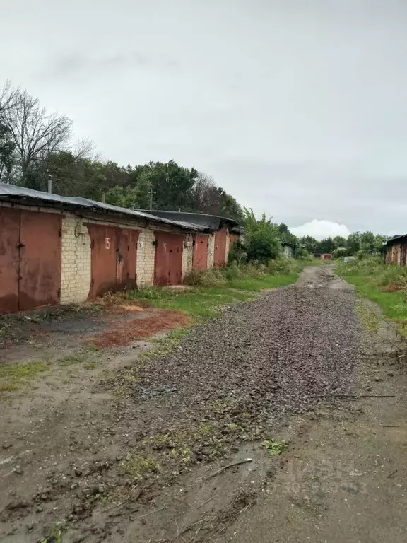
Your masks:
[[[138,230],[88,223],[91,281],[89,298],[136,284]]]

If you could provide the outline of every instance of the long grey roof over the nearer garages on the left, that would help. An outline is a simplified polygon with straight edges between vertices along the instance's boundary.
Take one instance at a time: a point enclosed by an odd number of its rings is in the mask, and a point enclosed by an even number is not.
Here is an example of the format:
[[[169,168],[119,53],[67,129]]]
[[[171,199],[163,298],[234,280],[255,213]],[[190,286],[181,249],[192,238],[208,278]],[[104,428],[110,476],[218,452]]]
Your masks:
[[[87,198],[59,196],[59,194],[49,194],[48,192],[42,192],[40,190],[27,189],[25,187],[17,187],[16,185],[6,185],[5,183],[0,183],[0,200],[15,199],[28,200],[29,204],[33,204],[33,201],[36,201],[37,204],[38,202],[48,202],[49,204],[68,206],[73,209],[110,211],[118,215],[129,215],[133,216],[134,218],[145,219],[146,221],[178,226],[178,228],[183,228],[184,230],[206,230],[205,226],[199,224],[189,223],[187,221],[173,221],[169,218],[146,213],[145,211],[136,211],[135,209],[111,206],[110,204],[104,204],[103,202],[97,202],[96,200],[89,200]]]

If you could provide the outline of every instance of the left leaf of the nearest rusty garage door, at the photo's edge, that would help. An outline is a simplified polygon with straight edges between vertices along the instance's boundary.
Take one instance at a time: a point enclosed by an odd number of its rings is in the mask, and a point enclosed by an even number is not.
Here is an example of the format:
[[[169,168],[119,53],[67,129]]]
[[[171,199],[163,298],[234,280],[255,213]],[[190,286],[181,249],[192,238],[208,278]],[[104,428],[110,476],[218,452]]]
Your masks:
[[[18,311],[20,210],[0,208],[0,313]]]

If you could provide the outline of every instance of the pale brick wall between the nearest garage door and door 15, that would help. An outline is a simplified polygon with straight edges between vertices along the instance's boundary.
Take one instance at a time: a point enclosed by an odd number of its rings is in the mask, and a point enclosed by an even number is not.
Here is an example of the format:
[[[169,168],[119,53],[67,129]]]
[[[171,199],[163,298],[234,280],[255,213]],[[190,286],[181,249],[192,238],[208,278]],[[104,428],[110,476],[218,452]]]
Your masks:
[[[88,299],[90,289],[90,236],[81,218],[62,219],[61,303]]]

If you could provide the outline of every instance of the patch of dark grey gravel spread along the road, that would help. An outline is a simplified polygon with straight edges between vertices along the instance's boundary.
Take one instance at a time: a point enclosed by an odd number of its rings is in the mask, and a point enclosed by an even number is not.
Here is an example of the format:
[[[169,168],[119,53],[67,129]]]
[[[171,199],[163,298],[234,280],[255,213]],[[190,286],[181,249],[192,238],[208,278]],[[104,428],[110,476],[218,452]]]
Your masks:
[[[199,418],[199,411],[211,419],[217,402],[232,405],[229,419],[258,426],[306,411],[321,397],[353,394],[360,342],[355,295],[329,288],[331,281],[338,278],[316,269],[300,286],[226,309],[148,363],[139,390],[176,388],[155,401],[176,409],[179,419]]]

